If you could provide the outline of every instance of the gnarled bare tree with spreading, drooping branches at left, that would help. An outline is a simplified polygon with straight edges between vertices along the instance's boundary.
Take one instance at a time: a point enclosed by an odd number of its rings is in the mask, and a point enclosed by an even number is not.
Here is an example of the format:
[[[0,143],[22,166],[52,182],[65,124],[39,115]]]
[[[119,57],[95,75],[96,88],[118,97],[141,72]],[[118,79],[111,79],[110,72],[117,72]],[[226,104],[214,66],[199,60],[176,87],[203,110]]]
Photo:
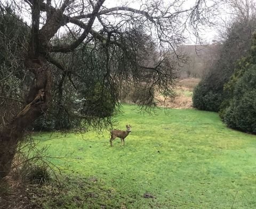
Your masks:
[[[209,18],[216,4],[196,0],[192,6],[186,7],[183,0],[166,2],[138,1],[135,7],[128,3],[109,7],[105,0],[12,2],[15,11],[21,14],[22,21],[30,25],[28,44],[23,46],[26,49],[24,63],[25,69],[34,76],[34,81],[29,87],[25,105],[0,132],[1,178],[10,171],[17,143],[25,129],[49,107],[53,75],[63,75],[63,79],[68,78],[71,83],[73,78],[79,77],[74,66],[67,68],[65,62],[56,59],[60,53],[74,55],[85,47],[101,51],[100,63],[104,69],[102,85],[109,91],[115,82],[130,79],[157,87],[168,95],[173,82],[172,69],[176,65],[167,60],[164,53],[170,49],[175,52],[185,40],[188,28],[198,36],[198,30],[210,24]],[[7,4],[8,1],[2,2],[1,10],[5,10]],[[57,35],[65,33],[65,30],[70,31],[73,37],[66,43],[57,42],[56,39],[61,38]],[[137,33],[141,30],[143,33]],[[145,62],[139,52],[145,47],[145,42],[139,43],[137,38],[140,36],[143,39],[143,34],[150,37],[150,42],[154,42],[158,49],[156,62],[150,62],[154,66],[150,66],[150,63],[142,66]],[[178,58],[178,54],[175,55]],[[86,63],[90,59],[83,61]],[[148,100],[154,102],[150,97],[145,99],[145,103],[149,104]]]

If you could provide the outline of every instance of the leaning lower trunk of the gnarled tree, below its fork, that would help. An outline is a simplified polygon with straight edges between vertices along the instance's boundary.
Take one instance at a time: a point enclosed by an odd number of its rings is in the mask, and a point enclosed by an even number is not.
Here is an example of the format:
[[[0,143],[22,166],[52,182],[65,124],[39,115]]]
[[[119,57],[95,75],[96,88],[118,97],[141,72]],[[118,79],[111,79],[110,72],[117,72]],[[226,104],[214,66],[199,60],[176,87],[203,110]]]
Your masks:
[[[47,110],[51,98],[51,69],[46,60],[27,59],[25,65],[35,74],[35,83],[30,86],[26,106],[0,132],[0,179],[10,172],[17,143],[25,129]]]

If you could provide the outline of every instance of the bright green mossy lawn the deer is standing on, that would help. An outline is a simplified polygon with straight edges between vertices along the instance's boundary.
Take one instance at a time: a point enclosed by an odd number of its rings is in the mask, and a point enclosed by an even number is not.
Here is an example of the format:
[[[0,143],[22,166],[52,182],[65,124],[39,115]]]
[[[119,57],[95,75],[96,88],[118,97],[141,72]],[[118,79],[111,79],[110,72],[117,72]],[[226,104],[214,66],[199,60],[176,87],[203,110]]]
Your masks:
[[[230,130],[213,112],[124,105],[116,128],[132,125],[122,146],[109,133],[41,133],[62,170],[63,188],[41,189],[44,208],[256,208],[255,135]],[[49,140],[51,138],[51,140]],[[145,198],[149,194],[153,198]]]

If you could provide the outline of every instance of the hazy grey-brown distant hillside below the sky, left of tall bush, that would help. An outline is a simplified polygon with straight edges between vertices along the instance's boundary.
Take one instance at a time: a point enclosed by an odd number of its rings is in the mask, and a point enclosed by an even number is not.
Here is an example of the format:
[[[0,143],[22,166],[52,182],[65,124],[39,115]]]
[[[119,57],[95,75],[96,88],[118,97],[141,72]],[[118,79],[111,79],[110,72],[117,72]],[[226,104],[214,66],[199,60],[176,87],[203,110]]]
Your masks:
[[[187,63],[181,63],[180,77],[204,76],[212,65],[213,61],[218,59],[218,50],[220,44],[211,45],[182,45],[177,50],[178,53],[187,55]]]

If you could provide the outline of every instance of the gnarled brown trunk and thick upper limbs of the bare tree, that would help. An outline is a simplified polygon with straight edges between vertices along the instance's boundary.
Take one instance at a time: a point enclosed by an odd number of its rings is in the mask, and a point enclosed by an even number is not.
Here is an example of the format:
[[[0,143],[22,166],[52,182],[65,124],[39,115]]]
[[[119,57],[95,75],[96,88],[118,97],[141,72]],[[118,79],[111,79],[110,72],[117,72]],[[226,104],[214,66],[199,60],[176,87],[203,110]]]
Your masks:
[[[25,129],[42,115],[48,107],[51,99],[52,75],[50,66],[47,65],[46,57],[49,52],[49,42],[62,25],[65,25],[65,15],[63,12],[71,3],[65,0],[60,9],[51,6],[51,1],[46,4],[39,0],[28,0],[31,4],[31,38],[28,46],[26,68],[35,75],[35,83],[30,86],[26,98],[26,106],[6,125],[0,132],[0,179],[6,176],[12,165],[17,144],[22,139]],[[87,37],[92,28],[95,17],[97,16],[103,2],[98,0],[93,8],[92,15],[84,28],[84,32],[70,46],[62,46],[60,52],[69,52],[76,49]],[[46,10],[47,21],[39,29],[40,12]]]

